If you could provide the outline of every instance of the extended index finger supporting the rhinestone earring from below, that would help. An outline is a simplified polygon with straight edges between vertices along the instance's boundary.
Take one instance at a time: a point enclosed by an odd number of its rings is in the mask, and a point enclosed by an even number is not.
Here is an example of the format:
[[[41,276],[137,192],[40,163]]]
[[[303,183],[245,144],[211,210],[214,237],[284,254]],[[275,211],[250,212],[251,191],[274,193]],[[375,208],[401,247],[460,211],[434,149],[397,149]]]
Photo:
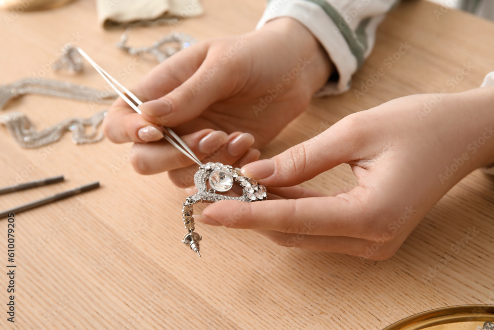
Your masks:
[[[222,200],[207,206],[203,216],[228,228],[364,239],[373,233],[366,225],[369,211],[355,193],[255,203]]]

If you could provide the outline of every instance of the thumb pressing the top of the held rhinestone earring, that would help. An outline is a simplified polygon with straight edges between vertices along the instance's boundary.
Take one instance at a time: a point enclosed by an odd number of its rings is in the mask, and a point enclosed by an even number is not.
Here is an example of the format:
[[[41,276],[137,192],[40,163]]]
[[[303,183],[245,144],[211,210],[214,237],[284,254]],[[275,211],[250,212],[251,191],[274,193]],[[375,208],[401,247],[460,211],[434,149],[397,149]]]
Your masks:
[[[265,186],[291,187],[350,161],[353,152],[348,140],[345,143],[341,134],[333,133],[333,127],[273,158],[245,165],[242,174]]]

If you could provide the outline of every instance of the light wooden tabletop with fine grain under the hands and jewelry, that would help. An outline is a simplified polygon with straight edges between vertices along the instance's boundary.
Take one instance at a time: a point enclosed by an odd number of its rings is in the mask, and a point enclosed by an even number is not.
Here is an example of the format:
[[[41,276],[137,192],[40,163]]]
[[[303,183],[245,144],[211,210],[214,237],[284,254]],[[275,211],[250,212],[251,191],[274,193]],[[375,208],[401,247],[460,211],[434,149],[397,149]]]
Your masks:
[[[122,30],[97,26],[93,2],[24,12],[8,26],[4,18],[11,14],[1,12],[0,83],[44,75],[106,87],[88,65],[79,76],[49,69],[71,39],[124,85],[139,81],[155,60],[132,64],[131,56],[114,47]],[[244,33],[254,28],[264,2],[205,1],[204,16],[174,30],[199,40]],[[427,1],[403,1],[379,27],[376,47],[355,75],[352,90],[314,99],[262,150],[263,157],[318,134],[347,114],[399,96],[479,86],[494,70],[494,24],[453,9],[443,8],[441,16],[434,10],[441,12]],[[148,45],[169,32],[169,26],[138,28],[130,32],[129,43]],[[391,67],[385,65],[401,43],[412,47]],[[468,63],[473,69],[459,79]],[[357,99],[355,91],[379,68],[385,74]],[[450,78],[457,75],[452,85]],[[99,109],[104,106],[30,95],[2,112],[24,111],[42,128]],[[16,214],[14,329],[382,329],[430,308],[494,303],[494,181],[479,172],[441,199],[387,261],[285,248],[250,231],[201,224],[203,258],[198,259],[180,242],[186,193],[174,189],[166,174],[134,173],[129,144],[104,140],[78,146],[66,135],[51,146],[22,149],[4,127],[0,137],[0,187],[18,176],[22,182],[59,174],[67,178],[1,196],[0,209],[95,180],[102,185],[80,199]],[[328,193],[355,184],[348,166],[307,183]],[[465,239],[473,228],[478,233]],[[6,231],[2,220],[1,329],[12,326],[5,314]],[[461,247],[453,248],[455,242]],[[448,253],[453,259],[445,264]]]

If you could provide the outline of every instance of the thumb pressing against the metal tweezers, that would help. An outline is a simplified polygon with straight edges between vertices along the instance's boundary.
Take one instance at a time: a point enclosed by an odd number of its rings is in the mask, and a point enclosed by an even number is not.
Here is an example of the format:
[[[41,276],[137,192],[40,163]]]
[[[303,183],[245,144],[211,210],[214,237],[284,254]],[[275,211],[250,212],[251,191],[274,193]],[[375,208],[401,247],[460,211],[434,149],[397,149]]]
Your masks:
[[[215,61],[205,61],[183,84],[170,93],[139,106],[144,118],[174,127],[198,117],[209,105],[221,99],[228,76]]]

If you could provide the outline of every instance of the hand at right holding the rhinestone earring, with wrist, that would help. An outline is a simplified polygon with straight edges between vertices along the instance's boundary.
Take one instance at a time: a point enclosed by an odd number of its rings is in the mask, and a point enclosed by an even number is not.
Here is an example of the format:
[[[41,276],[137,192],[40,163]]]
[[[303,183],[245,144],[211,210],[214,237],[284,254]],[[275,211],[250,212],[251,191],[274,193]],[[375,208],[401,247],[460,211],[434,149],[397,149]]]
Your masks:
[[[494,88],[435,102],[438,95],[349,115],[311,140],[247,164],[242,173],[266,185],[271,200],[219,201],[197,220],[253,229],[284,246],[391,257],[449,189],[494,162]],[[433,105],[429,113],[424,104]],[[342,163],[359,182],[350,191],[326,196],[295,186]]]

